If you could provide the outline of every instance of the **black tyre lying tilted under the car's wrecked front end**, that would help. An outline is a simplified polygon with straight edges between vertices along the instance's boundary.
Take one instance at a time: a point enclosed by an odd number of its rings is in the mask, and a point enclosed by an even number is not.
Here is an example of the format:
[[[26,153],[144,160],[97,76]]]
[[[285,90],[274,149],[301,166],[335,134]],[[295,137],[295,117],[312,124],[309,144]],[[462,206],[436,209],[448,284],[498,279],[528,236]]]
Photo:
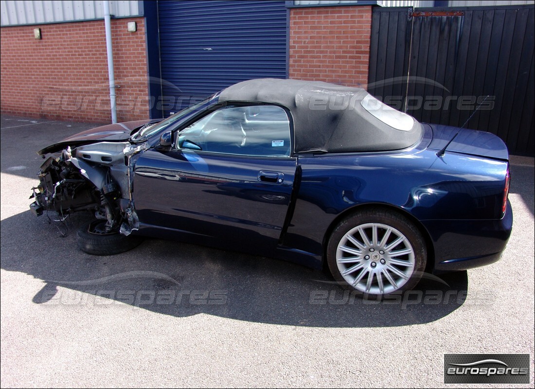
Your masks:
[[[98,233],[105,220],[90,220],[78,230],[78,248],[93,255],[114,255],[132,250],[140,245],[142,238],[120,234],[119,231]]]

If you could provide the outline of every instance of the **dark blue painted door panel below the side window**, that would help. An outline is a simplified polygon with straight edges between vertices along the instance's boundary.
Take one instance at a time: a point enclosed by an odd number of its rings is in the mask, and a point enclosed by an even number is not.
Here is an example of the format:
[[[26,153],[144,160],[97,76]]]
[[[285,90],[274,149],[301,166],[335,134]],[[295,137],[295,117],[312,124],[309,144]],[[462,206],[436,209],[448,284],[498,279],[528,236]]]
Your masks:
[[[275,249],[295,169],[296,158],[240,158],[151,149],[136,162],[136,211],[147,226]],[[262,182],[261,171],[279,173],[282,181]]]

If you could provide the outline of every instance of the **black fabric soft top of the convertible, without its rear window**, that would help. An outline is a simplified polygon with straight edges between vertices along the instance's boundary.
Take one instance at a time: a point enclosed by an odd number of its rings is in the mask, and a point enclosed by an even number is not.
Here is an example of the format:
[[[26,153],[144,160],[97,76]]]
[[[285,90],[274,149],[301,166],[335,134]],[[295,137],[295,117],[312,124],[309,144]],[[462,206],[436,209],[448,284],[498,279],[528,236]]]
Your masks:
[[[422,139],[423,128],[416,120],[403,131],[364,109],[361,101],[368,95],[362,88],[321,81],[265,78],[232,85],[221,91],[219,101],[285,106],[294,120],[296,152],[399,150]]]

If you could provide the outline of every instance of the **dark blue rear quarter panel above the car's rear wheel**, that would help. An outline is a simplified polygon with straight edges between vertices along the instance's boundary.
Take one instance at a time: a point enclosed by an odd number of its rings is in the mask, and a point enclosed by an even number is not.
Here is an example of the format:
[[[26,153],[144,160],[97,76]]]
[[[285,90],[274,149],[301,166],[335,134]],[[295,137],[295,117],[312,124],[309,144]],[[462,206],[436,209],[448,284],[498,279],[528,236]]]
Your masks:
[[[508,163],[429,149],[398,154],[316,155],[298,161],[302,180],[285,246],[323,255],[338,220],[366,205],[408,213],[419,226],[500,219]],[[456,222],[458,220],[458,222]],[[440,226],[440,223],[438,223]],[[438,227],[434,227],[437,230]],[[447,231],[426,231],[436,242]]]

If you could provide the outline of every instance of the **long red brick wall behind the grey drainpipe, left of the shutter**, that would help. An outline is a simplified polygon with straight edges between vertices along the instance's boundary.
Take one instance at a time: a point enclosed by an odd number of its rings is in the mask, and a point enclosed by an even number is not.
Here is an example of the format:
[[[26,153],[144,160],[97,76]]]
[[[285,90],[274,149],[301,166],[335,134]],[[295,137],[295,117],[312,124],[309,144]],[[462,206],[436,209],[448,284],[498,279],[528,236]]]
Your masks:
[[[127,22],[137,31],[128,33]],[[118,121],[149,117],[143,18],[112,26]],[[41,28],[41,40],[34,39]],[[1,29],[1,110],[13,115],[111,123],[104,21]]]

